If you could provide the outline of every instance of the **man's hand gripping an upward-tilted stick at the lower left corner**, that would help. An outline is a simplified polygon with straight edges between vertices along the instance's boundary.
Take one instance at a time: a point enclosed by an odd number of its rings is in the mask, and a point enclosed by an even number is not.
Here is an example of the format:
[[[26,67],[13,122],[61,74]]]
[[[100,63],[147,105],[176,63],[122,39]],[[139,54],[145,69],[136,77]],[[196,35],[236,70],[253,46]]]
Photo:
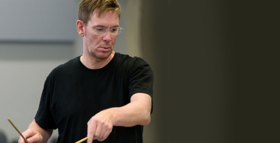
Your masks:
[[[43,140],[41,133],[33,129],[27,129],[22,133],[22,135],[26,138],[27,143],[39,143]],[[25,143],[24,139],[21,136],[18,140],[18,143]]]

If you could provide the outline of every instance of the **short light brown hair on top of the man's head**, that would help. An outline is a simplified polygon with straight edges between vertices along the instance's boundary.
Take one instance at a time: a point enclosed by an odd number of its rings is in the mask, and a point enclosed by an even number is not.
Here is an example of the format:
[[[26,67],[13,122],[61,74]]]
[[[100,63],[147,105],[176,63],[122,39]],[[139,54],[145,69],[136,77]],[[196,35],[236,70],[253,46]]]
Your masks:
[[[96,9],[98,9],[98,17],[104,12],[113,10],[120,18],[121,8],[117,0],[82,0],[79,5],[78,19],[88,22]]]

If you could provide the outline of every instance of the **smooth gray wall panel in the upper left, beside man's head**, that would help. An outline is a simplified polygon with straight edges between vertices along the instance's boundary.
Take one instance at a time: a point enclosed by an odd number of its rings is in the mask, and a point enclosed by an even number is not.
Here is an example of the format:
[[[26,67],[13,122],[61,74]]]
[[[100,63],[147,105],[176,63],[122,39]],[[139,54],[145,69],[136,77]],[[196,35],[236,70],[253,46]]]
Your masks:
[[[0,13],[0,41],[75,40],[75,0],[3,0]]]

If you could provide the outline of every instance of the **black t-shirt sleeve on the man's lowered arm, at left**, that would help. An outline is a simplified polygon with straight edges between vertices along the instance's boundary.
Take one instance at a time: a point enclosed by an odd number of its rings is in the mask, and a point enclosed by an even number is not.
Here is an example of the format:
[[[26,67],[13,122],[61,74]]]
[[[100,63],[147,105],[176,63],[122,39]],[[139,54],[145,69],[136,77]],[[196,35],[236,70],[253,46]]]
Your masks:
[[[57,129],[54,117],[51,113],[51,93],[52,93],[52,76],[49,74],[45,83],[44,89],[41,95],[38,111],[35,116],[37,124],[43,128]]]

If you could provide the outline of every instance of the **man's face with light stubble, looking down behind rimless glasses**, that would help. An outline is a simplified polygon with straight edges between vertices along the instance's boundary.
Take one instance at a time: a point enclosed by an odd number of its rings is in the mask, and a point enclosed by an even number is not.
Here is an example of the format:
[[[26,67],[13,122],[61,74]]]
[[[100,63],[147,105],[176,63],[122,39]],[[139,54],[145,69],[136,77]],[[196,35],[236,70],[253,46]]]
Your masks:
[[[85,24],[86,35],[83,37],[84,50],[86,50],[86,53],[94,60],[102,61],[108,58],[113,52],[117,35],[111,35],[110,29],[119,27],[119,17],[118,14],[113,11],[104,12],[100,17],[96,16],[96,12],[97,10],[92,13],[87,24],[93,29],[106,28],[108,31],[105,35],[96,35],[94,31]]]

